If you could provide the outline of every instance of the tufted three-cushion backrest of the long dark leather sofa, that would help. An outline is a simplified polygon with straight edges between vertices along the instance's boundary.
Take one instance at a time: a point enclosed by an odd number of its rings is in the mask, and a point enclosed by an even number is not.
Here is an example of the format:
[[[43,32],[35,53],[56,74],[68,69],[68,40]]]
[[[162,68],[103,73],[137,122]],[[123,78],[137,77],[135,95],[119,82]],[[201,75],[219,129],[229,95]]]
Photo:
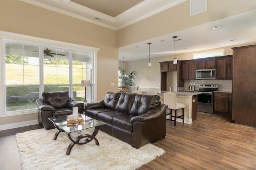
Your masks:
[[[132,115],[147,113],[160,104],[160,96],[108,92],[105,107]]]

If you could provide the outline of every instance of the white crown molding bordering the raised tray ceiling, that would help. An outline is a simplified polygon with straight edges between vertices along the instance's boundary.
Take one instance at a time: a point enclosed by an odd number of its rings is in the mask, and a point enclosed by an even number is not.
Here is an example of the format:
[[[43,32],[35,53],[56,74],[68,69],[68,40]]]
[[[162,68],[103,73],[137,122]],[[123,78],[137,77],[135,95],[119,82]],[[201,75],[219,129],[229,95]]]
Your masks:
[[[172,0],[171,2],[170,0],[144,0],[116,17],[108,16],[96,10],[76,4],[70,0],[44,0],[43,2],[39,2],[39,0],[20,1],[100,25],[102,27],[118,30],[185,2],[186,0]],[[98,18],[98,20],[95,18]]]

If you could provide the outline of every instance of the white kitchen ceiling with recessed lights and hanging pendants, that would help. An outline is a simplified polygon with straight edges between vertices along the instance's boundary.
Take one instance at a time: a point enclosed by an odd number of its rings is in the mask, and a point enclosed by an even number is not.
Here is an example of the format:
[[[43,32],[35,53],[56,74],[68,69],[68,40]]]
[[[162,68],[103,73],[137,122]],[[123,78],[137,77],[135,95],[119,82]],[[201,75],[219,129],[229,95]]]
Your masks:
[[[122,56],[124,56],[124,61],[148,59],[147,43],[152,43],[150,45],[150,58],[174,55],[173,36],[178,36],[176,40],[182,39],[176,41],[176,54],[254,43],[256,42],[255,16],[256,10],[252,10],[222,20],[120,47],[119,60],[122,60]],[[212,29],[212,27],[217,25],[221,25],[222,27]],[[232,39],[236,39],[236,41],[230,41]],[[165,41],[161,42],[161,40]]]

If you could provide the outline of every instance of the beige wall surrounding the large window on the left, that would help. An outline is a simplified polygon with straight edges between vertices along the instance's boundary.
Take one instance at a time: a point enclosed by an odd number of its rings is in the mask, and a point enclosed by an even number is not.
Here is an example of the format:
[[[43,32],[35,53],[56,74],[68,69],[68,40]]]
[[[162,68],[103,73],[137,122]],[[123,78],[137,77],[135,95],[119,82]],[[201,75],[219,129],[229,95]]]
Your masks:
[[[0,16],[1,31],[100,48],[96,66],[96,99],[104,98],[106,92],[117,91],[116,31],[19,0],[1,0]],[[2,60],[2,54],[0,59]],[[111,86],[112,82],[115,86]],[[37,113],[0,117],[0,125],[35,119]]]

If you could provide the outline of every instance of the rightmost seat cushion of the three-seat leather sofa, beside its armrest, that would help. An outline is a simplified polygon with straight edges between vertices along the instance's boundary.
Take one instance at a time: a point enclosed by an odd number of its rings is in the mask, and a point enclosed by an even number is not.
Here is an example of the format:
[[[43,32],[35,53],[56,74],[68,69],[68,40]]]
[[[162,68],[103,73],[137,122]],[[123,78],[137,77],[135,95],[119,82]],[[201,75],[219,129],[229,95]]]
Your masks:
[[[126,114],[123,116],[113,117],[112,124],[116,127],[132,132],[132,123],[130,123],[132,117],[135,117],[135,115]]]

